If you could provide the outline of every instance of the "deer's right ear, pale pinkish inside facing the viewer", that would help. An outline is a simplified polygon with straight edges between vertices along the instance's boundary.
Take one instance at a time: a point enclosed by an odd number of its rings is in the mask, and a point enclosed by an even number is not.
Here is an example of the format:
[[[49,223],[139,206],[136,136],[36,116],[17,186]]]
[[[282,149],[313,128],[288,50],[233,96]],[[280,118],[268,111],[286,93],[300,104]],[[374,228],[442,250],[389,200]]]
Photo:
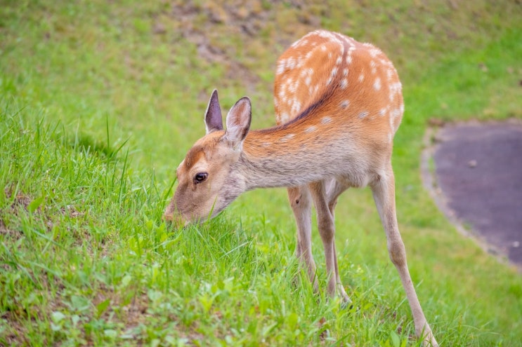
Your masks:
[[[247,137],[251,120],[252,104],[248,97],[242,97],[228,111],[226,116],[225,137],[234,149],[240,148],[244,138]]]

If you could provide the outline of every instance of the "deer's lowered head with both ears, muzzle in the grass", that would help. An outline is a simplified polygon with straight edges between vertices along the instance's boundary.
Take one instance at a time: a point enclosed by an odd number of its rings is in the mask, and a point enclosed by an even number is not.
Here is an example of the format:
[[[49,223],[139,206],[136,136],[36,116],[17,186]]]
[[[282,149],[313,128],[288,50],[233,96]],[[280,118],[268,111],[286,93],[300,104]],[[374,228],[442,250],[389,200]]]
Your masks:
[[[252,107],[242,97],[228,112],[223,130],[217,90],[212,93],[204,121],[207,133],[188,151],[176,170],[178,186],[164,212],[177,224],[215,217],[245,190],[237,162],[250,128]]]

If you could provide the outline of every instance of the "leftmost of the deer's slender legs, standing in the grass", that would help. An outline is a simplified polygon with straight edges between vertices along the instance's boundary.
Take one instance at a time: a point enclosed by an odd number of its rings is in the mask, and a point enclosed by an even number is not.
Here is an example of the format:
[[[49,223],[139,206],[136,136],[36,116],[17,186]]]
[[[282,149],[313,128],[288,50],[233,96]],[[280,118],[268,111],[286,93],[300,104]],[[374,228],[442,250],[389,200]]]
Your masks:
[[[311,197],[306,186],[297,186],[287,189],[288,199],[297,224],[296,257],[301,261],[308,272],[308,278],[313,283],[314,290],[318,290],[315,276],[315,262],[312,256],[312,217]]]

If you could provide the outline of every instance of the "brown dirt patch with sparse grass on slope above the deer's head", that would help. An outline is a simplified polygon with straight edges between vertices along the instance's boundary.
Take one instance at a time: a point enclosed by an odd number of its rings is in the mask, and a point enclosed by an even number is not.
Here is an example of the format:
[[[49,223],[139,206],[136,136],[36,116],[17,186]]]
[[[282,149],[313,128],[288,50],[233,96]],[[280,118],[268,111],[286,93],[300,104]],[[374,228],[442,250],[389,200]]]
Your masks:
[[[259,83],[259,62],[275,62],[283,49],[306,32],[320,27],[314,4],[306,1],[174,1],[153,18],[152,32],[167,35],[175,30],[196,48],[200,60],[218,64],[223,81],[242,81],[253,93]],[[281,18],[285,16],[285,18]],[[285,25],[280,25],[280,22]],[[272,60],[272,57],[274,59]],[[205,101],[208,95],[204,95]]]

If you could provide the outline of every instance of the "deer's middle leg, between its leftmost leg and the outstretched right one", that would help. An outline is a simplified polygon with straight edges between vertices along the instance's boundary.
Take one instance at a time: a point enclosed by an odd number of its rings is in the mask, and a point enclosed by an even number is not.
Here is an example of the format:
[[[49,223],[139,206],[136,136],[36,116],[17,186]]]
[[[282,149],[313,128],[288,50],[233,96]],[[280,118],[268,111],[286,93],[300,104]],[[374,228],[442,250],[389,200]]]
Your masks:
[[[339,267],[337,266],[337,254],[335,254],[335,225],[334,215],[329,208],[329,200],[325,186],[329,182],[314,182],[308,185],[315,211],[317,212],[318,229],[322,245],[325,248],[326,270],[328,275],[327,294],[333,297],[338,292],[341,300],[349,302],[350,299],[341,284]],[[337,193],[339,196],[339,193]],[[337,200],[337,196],[333,200]]]

